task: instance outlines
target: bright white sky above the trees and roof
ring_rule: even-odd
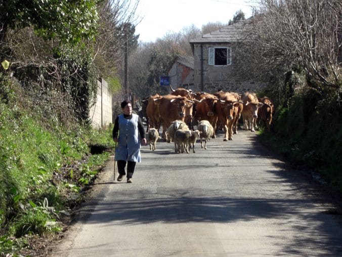
[[[252,15],[250,0],[139,0],[136,34],[139,41],[155,42],[167,33],[178,33],[194,24],[199,29],[208,22],[227,24],[242,10]]]

